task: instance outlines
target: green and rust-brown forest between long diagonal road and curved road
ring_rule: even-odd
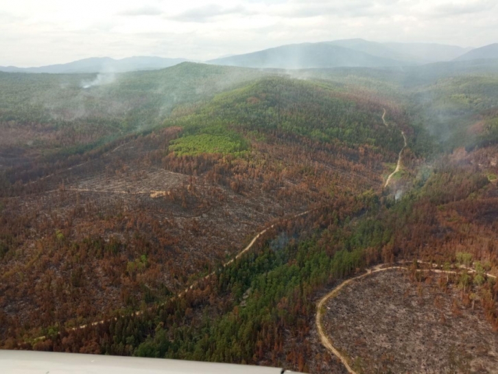
[[[496,272],[497,249],[493,245],[482,248],[482,240],[495,240],[495,221],[486,218],[483,206],[496,201],[497,187],[486,178],[489,170],[482,169],[489,165],[475,165],[474,156],[467,154],[466,161],[455,155],[444,160],[397,202],[372,192],[343,193],[306,217],[283,220],[265,233],[254,251],[202,281],[185,298],[140,316],[122,316],[86,329],[45,329],[44,341],[8,338],[4,347],[16,347],[21,341],[26,349],[339,372],[337,360],[316,340],[313,323],[316,300],[340,279],[379,261],[417,257],[442,267],[479,261],[486,271]],[[447,220],[448,212],[462,218]],[[464,213],[472,215],[475,226],[469,226]],[[410,236],[422,232],[418,239]],[[465,252],[458,243],[465,244]],[[479,274],[460,275],[455,288],[462,298],[461,312],[469,312],[474,305],[480,311],[479,324],[492,331],[498,321],[497,283],[484,282],[474,289],[467,285],[476,278],[479,283]],[[460,281],[465,288],[459,288]]]

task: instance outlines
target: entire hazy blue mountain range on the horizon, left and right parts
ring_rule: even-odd
[[[320,69],[335,67],[406,67],[433,62],[498,58],[498,44],[472,49],[436,43],[377,43],[361,38],[319,43],[281,45],[248,54],[228,55],[206,61],[211,65],[256,69]],[[85,58],[67,64],[43,67],[0,67],[0,71],[23,73],[123,73],[164,69],[186,58],[134,56],[117,60]],[[191,60],[190,60],[191,61]]]

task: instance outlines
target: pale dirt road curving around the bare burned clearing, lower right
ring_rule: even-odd
[[[420,261],[420,260],[417,260],[417,262],[418,262],[418,264],[429,264],[425,261]],[[460,268],[465,269],[469,272],[475,272],[474,269],[468,268],[466,266],[460,266]],[[342,290],[342,288],[344,288],[344,286],[348,285],[349,283],[351,283],[353,281],[357,281],[357,280],[362,279],[364,277],[368,277],[369,275],[374,274],[375,272],[382,272],[382,271],[394,270],[394,269],[408,270],[408,268],[406,266],[389,266],[388,268],[381,268],[381,265],[374,266],[373,268],[367,269],[366,273],[358,275],[357,277],[354,277],[354,278],[346,279],[346,281],[342,282],[340,285],[337,285],[337,287],[334,288],[331,292],[329,292],[328,294],[323,296],[322,299],[320,299],[320,301],[318,301],[318,303],[316,305],[317,310],[316,310],[315,323],[316,323],[316,329],[318,331],[318,335],[320,336],[320,341],[322,342],[322,345],[325,348],[327,348],[329,351],[331,351],[331,353],[333,353],[333,355],[335,355],[335,357],[337,357],[342,362],[342,364],[344,364],[344,367],[346,368],[346,370],[350,374],[356,374],[356,372],[353,369],[351,369],[351,366],[349,366],[349,364],[346,360],[346,357],[344,357],[344,355],[342,353],[340,353],[340,351],[338,351],[337,348],[335,348],[333,346],[329,337],[327,335],[325,335],[323,332],[322,312],[324,312],[324,304],[327,303],[327,301],[329,301],[329,299],[333,299],[335,296],[337,296],[337,294],[339,294],[339,292]],[[436,269],[434,269],[434,268],[433,269],[417,269],[416,271],[418,271],[418,272],[429,272],[430,271],[430,272],[436,272],[436,273],[442,273],[442,274],[458,274],[458,272],[455,270],[440,270],[437,268]],[[495,275],[489,274],[489,273],[486,273],[486,276],[491,277],[491,278],[495,278],[495,279],[497,278]]]

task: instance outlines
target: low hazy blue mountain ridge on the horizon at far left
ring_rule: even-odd
[[[92,57],[68,62],[67,64],[43,67],[0,67],[0,71],[11,73],[124,73],[126,71],[156,70],[178,65],[186,58],[163,58],[154,56],[133,56],[116,60],[110,57]]]

